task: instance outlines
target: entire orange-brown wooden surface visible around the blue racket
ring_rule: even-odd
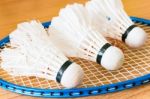
[[[12,31],[22,21],[38,19],[42,22],[56,16],[67,3],[84,3],[86,0],[0,0],[0,38]],[[131,16],[150,19],[149,0],[123,0]],[[150,99],[150,85],[143,85],[122,92],[84,97],[82,99]],[[37,99],[0,89],[0,99]]]

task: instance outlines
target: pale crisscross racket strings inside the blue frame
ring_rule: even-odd
[[[150,39],[150,27],[146,24],[137,23],[136,25],[142,27],[148,33],[148,39]],[[115,71],[107,71],[103,67],[99,66],[97,63],[88,61],[81,58],[70,58],[72,61],[81,65],[85,72],[85,76],[80,88],[87,88],[93,86],[101,86],[105,84],[112,84],[117,82],[122,82],[143,76],[150,73],[150,41],[147,40],[146,45],[140,49],[131,49],[124,45],[122,42],[109,39],[111,43],[124,51],[125,63],[122,68]],[[5,48],[10,47],[3,46],[0,51]],[[0,62],[2,60],[0,59]],[[3,69],[0,69],[0,78],[11,82],[13,84],[33,87],[33,88],[51,88],[51,89],[61,89],[63,88],[60,84],[38,77],[22,77],[22,76],[11,76]]]

